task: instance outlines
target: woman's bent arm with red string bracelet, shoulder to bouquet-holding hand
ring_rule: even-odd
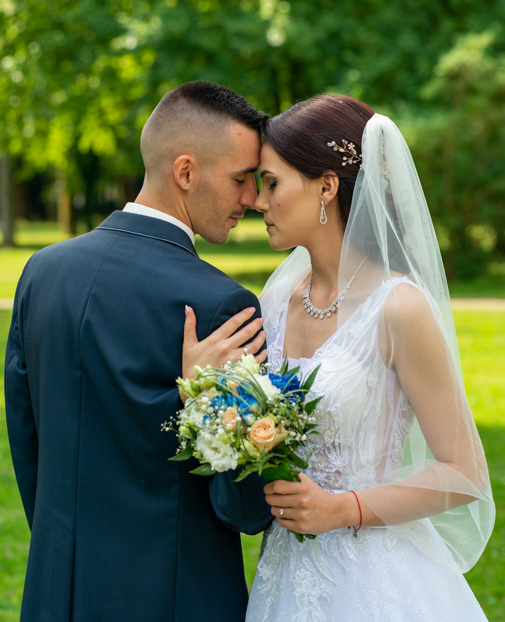
[[[410,285],[396,288],[384,308],[384,323],[385,358],[398,374],[434,459],[394,485],[358,491],[368,526],[433,516],[483,498],[489,487],[462,381],[424,295]],[[284,508],[281,526],[293,531],[317,534],[360,522],[354,494],[326,493],[306,476],[301,484],[270,483],[265,493],[275,516]]]

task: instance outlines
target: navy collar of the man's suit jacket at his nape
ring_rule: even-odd
[[[101,225],[97,227],[98,229],[124,231],[124,233],[160,239],[170,244],[176,244],[176,246],[182,246],[189,253],[198,256],[188,234],[184,233],[180,227],[172,225],[165,220],[160,220],[160,218],[118,210],[107,216]]]

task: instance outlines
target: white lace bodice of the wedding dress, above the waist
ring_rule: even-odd
[[[329,492],[375,486],[401,463],[414,414],[396,373],[384,364],[378,327],[386,298],[404,282],[415,287],[406,278],[384,282],[312,358],[289,360],[303,377],[321,365],[312,386],[314,396],[324,396],[315,411],[320,435],[309,439],[306,473]],[[283,362],[287,313],[286,300],[268,335],[273,368]]]

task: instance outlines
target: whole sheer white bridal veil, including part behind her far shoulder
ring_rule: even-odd
[[[341,138],[328,136],[329,141]],[[414,409],[416,416],[405,423],[403,447],[390,446],[394,439],[394,435],[388,434],[391,396],[378,399],[377,407],[383,412],[378,429],[373,430],[372,447],[357,443],[343,459],[343,489],[356,490],[391,536],[410,540],[455,572],[466,572],[479,559],[491,535],[494,503],[483,447],[465,396],[439,245],[414,162],[396,125],[388,117],[374,114],[366,123],[361,147],[357,149],[362,153],[362,170],[357,175],[343,236],[340,287],[350,280],[364,258],[366,262],[338,310],[337,330],[360,305],[367,304],[381,284],[395,276],[406,276],[414,287],[402,285],[393,289],[387,310],[381,314],[378,332],[371,338],[383,345],[386,373],[395,373],[388,353],[403,349],[407,356],[411,351],[412,356],[417,356],[419,343],[412,348],[407,333],[404,337],[401,332],[392,332],[388,317],[396,317],[397,311],[408,313],[406,306],[421,305],[419,309],[424,310],[427,324],[432,325],[427,331],[427,339],[432,343],[427,343],[427,348],[438,352],[431,371],[443,383],[444,399],[435,402],[429,391],[422,396],[423,408],[430,409],[440,424],[435,429],[435,440],[433,431],[427,429]],[[336,168],[335,172],[338,175]],[[268,279],[260,296],[267,335],[269,318],[270,322],[273,320],[269,310],[278,309],[310,270],[309,254],[306,249],[297,248]],[[402,287],[416,295],[405,295]],[[409,382],[415,386],[415,379]],[[391,388],[377,386],[376,391]],[[353,422],[343,421],[342,425],[352,428]],[[360,485],[355,474],[366,462],[360,452],[370,451],[373,473]],[[399,459],[391,468],[388,457],[394,453]],[[431,504],[434,510],[429,509]],[[434,537],[433,530],[423,529],[422,521],[416,519],[432,511],[435,513],[429,518],[439,537]]]

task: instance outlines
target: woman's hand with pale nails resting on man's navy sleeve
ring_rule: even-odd
[[[230,317],[227,322],[214,330],[208,337],[198,341],[196,337],[196,315],[191,307],[186,306],[183,378],[194,378],[195,365],[219,367],[227,361],[236,361],[240,355],[243,355],[245,348],[255,355],[258,363],[263,363],[268,355],[267,350],[259,351],[265,343],[265,332],[262,330],[263,318],[255,318],[240,328],[254,312],[254,307],[243,309]],[[256,333],[258,334],[256,335]]]

